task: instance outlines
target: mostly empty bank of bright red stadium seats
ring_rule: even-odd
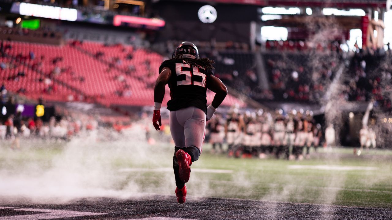
[[[5,66],[3,76],[9,90],[54,101],[151,105],[156,71],[163,61],[155,52],[120,44],[71,41],[58,47],[4,41],[4,45],[2,63],[13,63]],[[164,103],[168,90],[166,94]],[[212,93],[207,99],[212,100]],[[245,105],[232,96],[223,105],[234,103]]]

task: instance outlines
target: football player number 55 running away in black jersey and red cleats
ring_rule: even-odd
[[[160,108],[169,85],[171,99],[169,126],[174,141],[173,168],[176,179],[177,202],[186,200],[192,162],[199,159],[205,135],[205,123],[214,115],[216,108],[227,95],[227,88],[214,76],[214,61],[199,58],[197,47],[188,41],[178,45],[172,59],[159,67],[159,76],[154,87],[154,115],[152,124],[156,130],[162,126]],[[211,105],[207,107],[207,88],[215,92]],[[159,124],[158,124],[159,123]]]

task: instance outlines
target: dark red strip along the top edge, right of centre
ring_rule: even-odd
[[[165,0],[160,0],[165,1]],[[181,0],[209,4],[249,4],[258,6],[336,7],[336,8],[385,8],[386,0]]]

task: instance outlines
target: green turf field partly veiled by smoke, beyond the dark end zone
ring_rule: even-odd
[[[174,195],[172,144],[143,141],[0,143],[0,197],[66,202],[84,197]],[[312,151],[309,160],[234,159],[204,145],[186,184],[203,197],[392,207],[392,151]]]

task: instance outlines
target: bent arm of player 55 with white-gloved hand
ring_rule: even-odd
[[[214,99],[212,100],[211,105],[207,108],[207,121],[212,118],[214,115],[216,108],[220,106],[227,95],[227,88],[225,84],[222,83],[220,79],[215,77],[214,75],[207,76],[206,87],[215,92]]]

